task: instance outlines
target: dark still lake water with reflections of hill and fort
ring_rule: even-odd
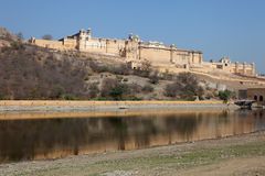
[[[157,113],[152,110],[117,116],[76,112],[75,117],[75,112],[71,112],[71,117],[59,113],[54,118],[50,113],[15,113],[19,118],[6,113],[0,116],[0,163],[138,150],[251,133],[265,130],[264,112],[166,110]]]

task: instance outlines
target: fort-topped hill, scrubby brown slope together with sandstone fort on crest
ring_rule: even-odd
[[[92,30],[57,41],[20,36],[0,28],[0,99],[193,100],[219,99],[225,90],[264,97],[250,89],[265,85],[255,65],[227,57],[205,62],[200,51],[132,34],[94,37]]]

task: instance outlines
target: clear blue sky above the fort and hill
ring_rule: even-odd
[[[95,36],[160,41],[204,59],[255,62],[265,73],[265,0],[0,0],[0,25],[55,38],[92,28]]]

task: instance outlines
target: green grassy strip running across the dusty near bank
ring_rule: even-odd
[[[92,164],[54,166],[24,173],[25,175],[104,175],[116,170],[132,172],[135,175],[149,170],[178,170],[201,165],[219,163],[230,158],[265,156],[265,141],[243,145],[216,146],[212,148],[193,148],[171,154],[152,154],[141,157],[125,157],[123,160],[106,160]],[[21,173],[20,173],[21,174]],[[123,175],[123,174],[121,174]]]

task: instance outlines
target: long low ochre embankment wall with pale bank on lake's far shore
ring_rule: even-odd
[[[104,111],[140,109],[239,109],[223,101],[64,101],[64,100],[1,100],[0,112],[8,111]]]

